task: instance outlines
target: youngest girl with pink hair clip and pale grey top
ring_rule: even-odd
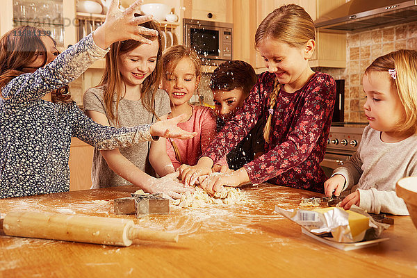
[[[377,58],[363,75],[369,126],[357,152],[325,182],[327,196],[352,189],[341,206],[370,213],[408,215],[395,194],[402,177],[417,174],[417,51],[399,50]]]

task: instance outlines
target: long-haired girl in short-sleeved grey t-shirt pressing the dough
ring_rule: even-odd
[[[161,31],[151,21],[142,27],[158,31],[151,44],[124,40],[111,45],[106,54],[106,70],[101,83],[85,92],[85,113],[100,124],[134,126],[156,122],[170,112],[170,99],[161,82]],[[174,176],[156,179],[149,163],[149,142],[99,151],[95,149],[92,165],[92,187],[133,184],[149,193],[166,193],[179,197],[183,185]],[[165,181],[166,180],[166,181]]]

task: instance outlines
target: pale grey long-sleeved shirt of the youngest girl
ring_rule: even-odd
[[[346,179],[345,188],[359,190],[359,206],[369,213],[409,215],[404,200],[395,193],[402,177],[417,174],[417,135],[395,143],[382,142],[380,131],[366,126],[357,152],[334,170]]]

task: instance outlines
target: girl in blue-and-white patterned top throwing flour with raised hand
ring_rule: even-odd
[[[40,28],[24,26],[0,40],[0,197],[57,193],[70,189],[68,158],[71,137],[99,149],[126,147],[152,136],[191,138],[177,122],[158,122],[115,129],[101,126],[64,99],[63,88],[95,60],[108,45],[154,31],[138,27],[150,17],[133,16],[139,1],[124,13],[115,5],[97,30],[58,55],[56,44]],[[112,30],[117,30],[113,32]]]

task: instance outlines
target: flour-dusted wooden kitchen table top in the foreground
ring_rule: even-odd
[[[142,227],[177,232],[178,243],[134,240],[115,247],[0,235],[0,277],[417,277],[417,229],[393,217],[379,245],[341,251],[302,234],[272,213],[299,206],[304,190],[263,184],[244,188],[249,202],[206,208],[171,206],[170,215],[136,219],[115,215],[113,199],[136,188],[0,199],[9,211],[40,211],[129,218]]]

